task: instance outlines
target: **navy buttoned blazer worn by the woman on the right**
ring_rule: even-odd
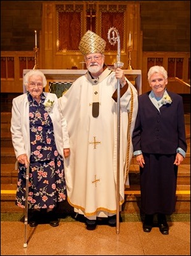
[[[160,111],[150,100],[150,92],[138,97],[138,115],[132,133],[134,151],[159,154],[174,154],[177,148],[187,151],[182,97],[167,93],[173,102],[162,105]]]

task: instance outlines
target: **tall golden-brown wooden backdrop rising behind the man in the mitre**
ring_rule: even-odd
[[[108,41],[110,27],[115,27],[120,34],[121,61],[124,62],[124,68],[128,66],[127,43],[131,31],[132,67],[141,69],[140,3],[134,1],[43,3],[39,68],[71,69],[76,66],[81,69],[83,55],[78,50],[78,45],[88,29],[92,29],[106,41],[106,64],[112,65],[117,61],[117,44],[111,45]]]

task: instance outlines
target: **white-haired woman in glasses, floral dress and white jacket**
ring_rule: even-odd
[[[41,71],[29,71],[24,76],[27,92],[13,99],[11,110],[11,136],[18,160],[15,204],[21,208],[28,205],[32,211],[31,227],[42,218],[52,227],[59,225],[55,209],[66,200],[64,158],[70,152],[67,124],[60,116],[57,96],[43,92],[46,83]],[[25,187],[27,167],[28,188]]]

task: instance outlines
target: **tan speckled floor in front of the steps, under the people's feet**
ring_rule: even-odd
[[[143,232],[139,216],[128,214],[118,231],[108,225],[88,231],[71,217],[60,219],[58,227],[30,227],[13,215],[1,214],[1,255],[190,255],[190,214],[171,215],[168,235],[157,226]]]

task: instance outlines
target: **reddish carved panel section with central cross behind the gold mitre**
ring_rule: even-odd
[[[106,52],[116,52],[117,44],[108,41],[108,31],[115,27],[120,34],[120,47],[125,52],[125,4],[56,4],[57,51],[76,51],[86,31],[99,34],[106,41]],[[83,25],[84,24],[84,25]]]

